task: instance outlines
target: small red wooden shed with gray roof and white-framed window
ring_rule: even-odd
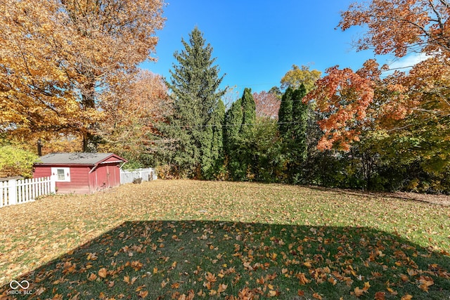
[[[33,178],[53,176],[57,193],[94,193],[120,185],[124,162],[114,153],[51,153],[34,164]]]

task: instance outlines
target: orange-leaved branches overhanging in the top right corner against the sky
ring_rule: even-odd
[[[446,0],[372,0],[354,3],[342,13],[339,26],[347,30],[366,25],[368,31],[356,43],[359,50],[402,57],[410,51],[450,53],[449,6]]]

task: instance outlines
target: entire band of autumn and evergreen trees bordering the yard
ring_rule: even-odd
[[[164,2],[123,3],[2,4],[9,11],[0,18],[2,174],[29,176],[40,139],[44,154],[116,152],[130,167],[159,166],[167,178],[450,193],[446,1],[372,0],[342,13],[342,30],[368,26],[360,49],[426,54],[409,72],[385,75],[385,66],[368,60],[321,77],[293,65],[280,86],[244,89],[229,107],[198,28],[181,40],[169,79],[139,70],[155,51]],[[138,50],[124,46],[130,43]],[[11,159],[17,164],[6,164]]]

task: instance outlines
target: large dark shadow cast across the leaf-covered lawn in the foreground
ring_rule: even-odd
[[[27,289],[17,284],[26,286],[24,280]],[[407,294],[450,299],[450,257],[371,228],[221,221],[125,222],[0,287],[4,299],[400,299]]]

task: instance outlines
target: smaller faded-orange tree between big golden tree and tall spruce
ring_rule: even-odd
[[[146,157],[154,155],[164,142],[155,142],[155,136],[160,136],[156,125],[172,113],[164,79],[140,70],[127,80],[117,81],[103,97],[105,120],[98,127],[102,137],[99,150],[148,164]]]

